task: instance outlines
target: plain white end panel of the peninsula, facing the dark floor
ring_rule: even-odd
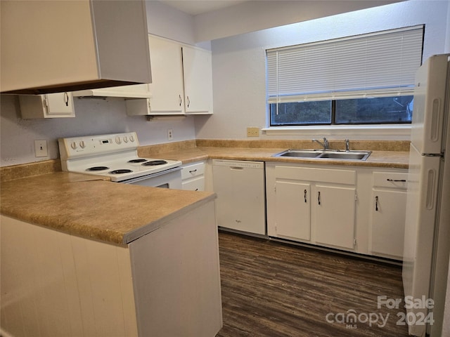
[[[212,202],[130,244],[139,336],[213,337],[221,328]]]

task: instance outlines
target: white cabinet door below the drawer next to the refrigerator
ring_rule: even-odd
[[[373,189],[372,253],[402,258],[406,191]]]

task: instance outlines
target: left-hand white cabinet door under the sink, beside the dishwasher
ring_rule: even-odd
[[[311,239],[311,185],[301,182],[277,181],[276,236],[302,240]]]

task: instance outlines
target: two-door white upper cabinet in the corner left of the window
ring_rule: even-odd
[[[148,36],[153,82],[146,100],[127,100],[127,114],[212,114],[211,52]]]

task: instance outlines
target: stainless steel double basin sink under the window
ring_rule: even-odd
[[[371,151],[345,150],[285,150],[273,157],[294,157],[307,159],[366,160]]]

